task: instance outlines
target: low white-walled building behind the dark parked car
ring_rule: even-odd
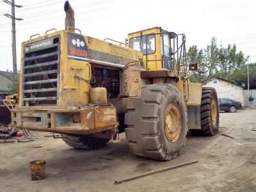
[[[244,106],[244,92],[242,86],[219,77],[213,77],[204,81],[204,83],[204,86],[215,88],[219,98],[237,100],[243,102]]]

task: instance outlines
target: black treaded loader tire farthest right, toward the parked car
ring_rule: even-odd
[[[212,102],[216,104],[216,118],[212,120]],[[201,129],[189,129],[189,132],[193,135],[204,135],[204,136],[214,136],[218,133],[219,129],[219,108],[218,108],[218,96],[216,90],[211,87],[202,88],[202,99],[201,99]]]

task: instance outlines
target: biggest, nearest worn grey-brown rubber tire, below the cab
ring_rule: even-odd
[[[175,142],[166,137],[164,114],[174,103],[180,112],[180,134]],[[186,143],[188,132],[184,99],[171,84],[150,84],[141,88],[141,98],[129,100],[125,114],[125,135],[129,148],[136,156],[170,160],[179,156]]]

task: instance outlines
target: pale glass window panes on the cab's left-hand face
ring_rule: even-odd
[[[147,41],[147,42],[146,42]],[[141,51],[142,54],[152,54],[156,52],[156,35],[142,35],[130,39],[132,49]]]

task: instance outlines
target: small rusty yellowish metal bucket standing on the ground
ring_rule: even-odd
[[[35,160],[30,162],[31,180],[41,180],[45,178],[45,161]]]

